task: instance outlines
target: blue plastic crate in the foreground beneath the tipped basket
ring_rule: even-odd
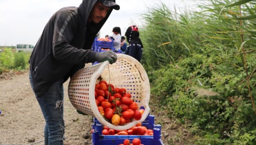
[[[154,135],[102,135],[103,125],[94,118],[92,128],[92,144],[93,145],[119,145],[124,142],[125,139],[132,141],[134,138],[139,138],[141,144],[144,145],[163,145],[161,140],[161,125],[154,124],[154,115],[148,115],[148,121],[141,123],[142,126],[148,129],[153,129]]]

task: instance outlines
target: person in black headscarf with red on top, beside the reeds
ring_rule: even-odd
[[[138,27],[135,25],[128,27],[125,36],[129,43],[125,54],[134,57],[140,62],[142,57],[143,44],[139,38]]]

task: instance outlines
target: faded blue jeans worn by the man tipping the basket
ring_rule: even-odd
[[[30,72],[29,80],[31,87],[33,88]],[[63,79],[53,84],[43,97],[36,97],[46,122],[44,128],[45,145],[63,145],[65,129],[63,119],[63,97]]]

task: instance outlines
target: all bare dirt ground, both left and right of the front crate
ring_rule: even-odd
[[[92,117],[76,113],[68,99],[68,81],[64,83],[65,145],[89,145]],[[163,110],[150,99],[155,124],[162,125],[162,141],[187,144],[189,132],[175,120],[167,119]],[[28,79],[28,70],[0,75],[0,145],[44,144],[45,121]],[[39,143],[37,143],[39,142]]]

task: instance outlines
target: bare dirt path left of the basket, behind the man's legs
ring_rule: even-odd
[[[91,144],[91,119],[76,113],[64,84],[65,144]],[[28,71],[0,80],[0,144],[30,144],[44,139],[44,118],[28,79]],[[41,142],[39,144],[44,144]]]

